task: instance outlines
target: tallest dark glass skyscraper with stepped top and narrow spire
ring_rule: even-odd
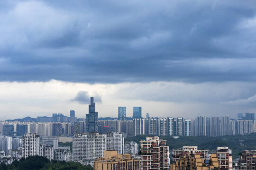
[[[89,114],[86,114],[86,132],[98,132],[98,112],[95,112],[95,102],[91,97],[89,104]]]

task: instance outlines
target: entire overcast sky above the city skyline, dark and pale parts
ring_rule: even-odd
[[[0,119],[256,112],[255,0],[2,0]]]

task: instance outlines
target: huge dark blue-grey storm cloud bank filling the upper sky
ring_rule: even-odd
[[[254,1],[0,3],[1,81],[256,80]]]

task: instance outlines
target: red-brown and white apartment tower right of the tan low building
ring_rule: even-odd
[[[140,141],[141,170],[163,170],[168,168],[169,146],[158,136]]]

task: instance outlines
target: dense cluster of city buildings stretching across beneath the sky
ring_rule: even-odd
[[[256,132],[254,113],[202,117],[194,120],[178,118],[146,118],[141,107],[134,107],[133,118],[126,117],[126,107],[118,108],[118,119],[98,119],[91,97],[89,113],[77,119],[53,114],[28,121],[0,122],[0,161],[12,164],[30,156],[48,160],[74,161],[91,165],[94,170],[254,170],[256,151],[242,151],[233,164],[232,151],[219,146],[216,151],[183,146],[170,150],[165,139],[158,136],[226,136]],[[140,143],[125,142],[127,136],[150,135]],[[61,146],[60,143],[70,143]]]

